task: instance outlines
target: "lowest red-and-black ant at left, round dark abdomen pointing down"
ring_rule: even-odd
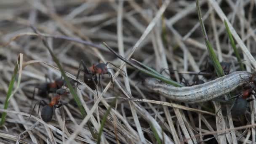
[[[56,90],[56,93],[54,94],[53,99],[50,101],[49,104],[44,100],[40,100],[37,115],[39,113],[40,106],[43,105],[43,109],[41,110],[41,118],[45,123],[50,122],[53,117],[54,110],[63,105],[63,103],[61,103],[59,101],[61,96],[68,94],[68,93],[69,92],[66,91],[65,89],[59,88],[58,90]],[[35,104],[35,106],[36,106],[36,104]],[[32,112],[34,111],[35,106],[33,107]],[[29,119],[32,115],[32,112],[29,116]]]

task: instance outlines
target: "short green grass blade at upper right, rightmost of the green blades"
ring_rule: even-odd
[[[241,69],[241,70],[245,70],[245,67],[244,67],[244,65],[243,65],[243,63],[242,63],[241,57],[240,57],[240,55],[239,55],[239,53],[238,53],[237,47],[235,46],[235,41],[234,41],[234,39],[233,39],[233,37],[232,37],[232,34],[231,34],[231,32],[230,32],[230,29],[229,29],[229,26],[227,25],[227,21],[224,20],[224,23],[225,23],[225,27],[226,27],[227,33],[228,33],[228,35],[229,35],[230,43],[231,43],[231,45],[232,45],[232,48],[234,49],[235,56],[237,57],[237,61],[238,61],[239,64],[240,64],[240,69]]]

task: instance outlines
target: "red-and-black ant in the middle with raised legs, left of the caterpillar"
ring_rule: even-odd
[[[81,64],[83,65],[83,69],[80,68]],[[97,77],[96,74],[99,75],[99,83],[100,83],[100,76],[104,75],[104,74],[108,74],[111,77],[111,83],[113,83],[113,77],[112,77],[111,73],[107,70],[107,69],[113,69],[113,68],[107,68],[108,64],[111,64],[112,66],[121,70],[123,73],[120,72],[120,71],[119,72],[126,77],[126,74],[123,71],[123,69],[120,69],[119,67],[115,66],[111,62],[93,64],[92,67],[89,67],[89,70],[88,70],[87,67],[85,66],[84,61],[81,60],[80,64],[79,64],[79,69],[78,69],[78,72],[77,72],[77,79],[78,79],[78,76],[80,74],[80,71],[83,71],[84,72],[84,76],[83,76],[84,82],[93,90],[95,90],[96,86],[98,85],[98,77]],[[97,89],[96,89],[96,91],[98,93]]]

